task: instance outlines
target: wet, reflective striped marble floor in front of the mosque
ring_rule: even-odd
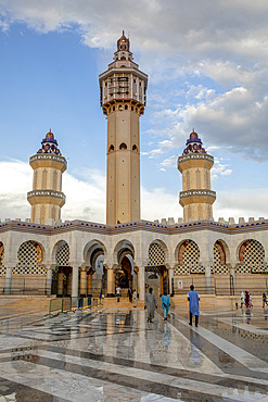
[[[0,318],[3,401],[268,401],[268,311],[141,309]]]

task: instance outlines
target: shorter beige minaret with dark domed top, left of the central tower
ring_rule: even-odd
[[[65,204],[62,192],[62,174],[66,171],[67,162],[62,156],[54,135],[50,131],[41,141],[42,147],[29,159],[34,169],[33,191],[27,193],[31,205],[30,219],[40,219],[46,224],[61,218],[61,208]]]

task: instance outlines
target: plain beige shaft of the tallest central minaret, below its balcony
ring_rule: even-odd
[[[140,136],[139,114],[117,103],[107,115],[106,222],[140,219]],[[123,109],[123,110],[120,110]],[[127,149],[120,149],[120,145]],[[111,146],[114,150],[111,150]],[[132,150],[132,147],[136,149]]]

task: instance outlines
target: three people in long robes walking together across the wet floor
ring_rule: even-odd
[[[190,314],[190,322],[189,325],[192,326],[193,316],[195,317],[195,327],[199,326],[199,301],[200,297],[199,293],[194,290],[194,286],[190,286],[190,291],[188,292],[188,301],[189,301],[189,314]],[[164,321],[167,321],[168,311],[170,306],[170,299],[166,291],[161,297],[162,309],[164,312]],[[154,318],[154,312],[157,309],[157,301],[153,293],[153,289],[150,288],[149,292],[145,294],[145,303],[144,310],[148,311],[148,323],[152,323]]]

